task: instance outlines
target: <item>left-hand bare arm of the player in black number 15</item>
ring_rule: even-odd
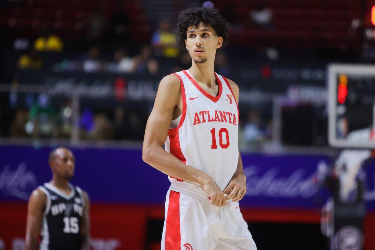
[[[31,193],[27,206],[26,250],[36,250],[40,229],[42,228],[43,212],[47,204],[47,196],[42,190]]]

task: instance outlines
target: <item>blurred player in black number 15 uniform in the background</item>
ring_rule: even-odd
[[[28,202],[27,250],[90,249],[89,196],[69,183],[74,162],[67,148],[49,154],[52,180],[34,190]]]

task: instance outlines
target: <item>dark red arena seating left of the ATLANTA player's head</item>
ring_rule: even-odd
[[[117,1],[105,1],[96,5],[91,0],[24,0],[17,6],[0,7],[0,27],[8,34],[37,37],[39,25],[43,24],[51,33],[66,38],[82,38],[87,19],[95,10],[100,10],[104,18],[109,18],[118,10]],[[148,42],[150,28],[138,1],[123,1],[121,8],[130,19],[131,39]]]

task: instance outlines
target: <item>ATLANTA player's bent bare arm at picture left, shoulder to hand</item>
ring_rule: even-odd
[[[177,107],[177,108],[176,108]],[[224,193],[204,172],[188,166],[163,149],[169,126],[176,109],[182,111],[180,80],[175,75],[165,76],[159,84],[154,107],[148,117],[143,141],[142,159],[166,175],[198,183],[208,195],[208,202],[216,207],[226,205]]]

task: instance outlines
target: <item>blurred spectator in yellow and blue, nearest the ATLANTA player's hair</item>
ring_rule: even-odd
[[[157,56],[161,54],[164,57],[177,58],[180,54],[175,34],[171,31],[171,23],[168,19],[159,23],[158,30],[151,37],[151,43]]]

